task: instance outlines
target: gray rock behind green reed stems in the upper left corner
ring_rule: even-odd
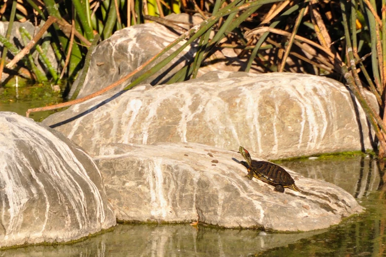
[[[43,24],[43,23],[42,23]],[[20,31],[19,29],[21,27],[24,27],[30,34],[31,36],[34,36],[38,31],[39,31],[39,28],[36,28],[31,22],[27,21],[27,22],[14,22],[13,23],[13,26],[12,26],[12,32],[11,32],[11,36],[10,36],[10,39],[9,41],[14,45],[16,46],[19,50],[23,49],[24,48],[24,42],[22,40],[22,36],[20,34]],[[5,36],[5,33],[7,32],[7,29],[8,29],[8,22],[0,22],[0,34],[2,36]],[[51,62],[52,66],[54,68],[57,68],[58,67],[58,62],[56,60],[56,57],[55,57],[55,54],[54,54],[54,51],[51,47],[51,45],[49,44],[49,41],[51,40],[50,36],[47,35],[47,32],[45,32],[42,36],[42,39],[39,40],[38,44],[41,44],[42,42],[45,42],[44,43],[44,47],[43,50],[45,50],[45,53],[46,53],[46,56],[48,58],[48,60]],[[2,49],[3,49],[3,46],[2,44],[0,43],[0,53],[2,53]],[[33,54],[33,56],[35,57],[38,53],[37,51],[35,51],[35,48],[33,48],[31,50],[31,53]],[[13,55],[10,54],[8,52],[8,60],[12,60],[13,59]],[[41,70],[41,71],[44,71],[46,74],[49,74],[48,70],[44,67],[44,65],[42,65],[38,58],[35,58],[35,65]],[[3,82],[5,81],[7,78],[8,78],[9,74],[7,73],[7,69],[5,69],[3,71],[3,74],[1,76],[1,81],[0,82]],[[48,75],[49,76],[49,75]]]

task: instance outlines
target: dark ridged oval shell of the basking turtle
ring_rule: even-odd
[[[260,174],[259,179],[268,184],[274,186],[290,186],[295,184],[291,175],[289,175],[289,173],[279,165],[267,161],[255,160],[252,160],[251,164],[253,171]]]

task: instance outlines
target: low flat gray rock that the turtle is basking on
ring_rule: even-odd
[[[293,171],[302,192],[274,192],[274,186],[245,177],[237,152],[201,144],[110,144],[94,160],[123,221],[309,231],[362,211],[350,193]]]

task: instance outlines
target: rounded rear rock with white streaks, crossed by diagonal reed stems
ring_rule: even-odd
[[[126,76],[155,56],[174,41],[175,38],[177,38],[175,32],[170,31],[158,23],[130,26],[115,32],[111,37],[96,47],[90,61],[90,68],[87,72],[85,82],[83,83],[83,85],[87,86],[82,87],[77,97],[90,95]],[[184,43],[185,41],[181,41],[175,45],[165,56],[171,55]],[[159,72],[145,80],[144,83],[156,85],[168,81],[176,71],[180,70],[192,60],[195,50],[191,50],[191,47],[194,45],[195,43],[188,46],[173,62],[165,65]],[[160,60],[165,58],[165,56]],[[158,62],[159,61],[156,61],[155,63]],[[142,73],[143,72],[140,72],[133,76],[125,81],[125,83],[113,89],[113,91],[122,90]],[[72,85],[69,97],[75,92],[77,83],[78,81],[75,81]]]

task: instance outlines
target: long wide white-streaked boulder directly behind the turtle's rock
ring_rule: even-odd
[[[217,71],[98,96],[43,123],[91,155],[106,143],[196,142],[228,150],[243,145],[272,160],[371,149],[366,116],[352,99],[343,84],[325,77]]]

